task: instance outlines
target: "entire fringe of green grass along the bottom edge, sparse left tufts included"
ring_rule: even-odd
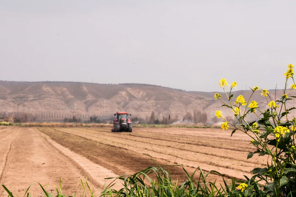
[[[232,181],[227,184],[226,180],[223,178],[223,175],[217,171],[210,171],[206,174],[198,167],[192,175],[186,171],[182,165],[166,165],[168,169],[170,167],[181,167],[186,175],[186,180],[177,180],[174,181],[171,178],[171,173],[169,170],[165,170],[160,165],[156,164],[156,167],[147,167],[144,170],[136,172],[132,175],[122,175],[115,178],[109,185],[107,185],[104,190],[99,194],[99,197],[226,197],[226,196],[244,196],[240,190],[236,187],[241,181]],[[209,174],[218,174],[223,179],[223,184],[216,185],[215,182],[207,181],[207,176]],[[197,177],[195,180],[193,177]],[[114,179],[114,178],[106,178]],[[120,180],[120,182],[118,182]],[[255,181],[255,180],[250,180]],[[61,183],[61,181],[60,181]],[[43,194],[39,197],[95,197],[94,189],[91,189],[87,181],[83,183],[81,180],[81,186],[83,187],[83,193],[77,194],[74,192],[72,196],[65,196],[61,193],[62,186],[59,185],[59,188],[54,190],[46,191],[44,186],[38,183],[43,191]],[[115,184],[122,184],[120,189],[113,189]],[[4,185],[2,187],[7,191],[9,197],[16,197],[10,192]],[[257,184],[259,188],[259,184]],[[28,192],[30,186],[25,192],[25,196],[30,197],[31,194]],[[118,188],[118,187],[117,187]],[[255,192],[252,196],[266,196],[263,193]],[[246,195],[245,195],[246,196]]]

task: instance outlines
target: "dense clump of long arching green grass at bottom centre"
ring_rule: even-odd
[[[118,177],[117,179],[121,180],[123,187],[119,190],[112,189],[112,186],[115,184],[112,182],[102,192],[101,196],[230,196],[232,194],[231,191],[235,189],[235,183],[233,182],[234,185],[228,186],[223,176],[217,171],[210,171],[204,174],[198,168],[199,178],[194,180],[193,177],[198,172],[197,170],[192,175],[189,175],[183,166],[174,165],[174,167],[181,167],[187,179],[173,181],[170,171],[157,165],[157,167],[148,167],[133,175]],[[207,182],[206,178],[210,173],[221,175],[224,185],[216,186],[215,182]]]

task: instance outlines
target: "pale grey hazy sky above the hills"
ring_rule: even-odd
[[[294,0],[0,0],[0,80],[283,88],[295,30]]]

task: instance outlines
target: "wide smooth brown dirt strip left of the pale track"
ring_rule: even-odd
[[[7,154],[7,165],[3,170],[1,184],[4,184],[16,196],[24,196],[26,189],[32,196],[38,196],[43,191],[41,185],[59,185],[62,182],[62,193],[66,195],[81,194],[81,179],[86,178],[86,172],[75,165],[64,154],[60,154],[35,128],[11,127],[9,135],[17,135],[11,143]],[[0,136],[6,135],[0,130]],[[12,137],[7,136],[13,139]],[[1,144],[2,145],[2,144]],[[0,152],[4,150],[0,147]],[[2,155],[1,155],[2,156]],[[97,187],[95,182],[88,180],[89,185]],[[45,190],[53,189],[54,185],[45,186]],[[96,190],[96,193],[98,190]],[[0,196],[7,196],[4,188],[0,188]],[[25,195],[27,196],[27,195]]]

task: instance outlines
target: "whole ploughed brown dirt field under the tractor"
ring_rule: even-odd
[[[80,181],[88,173],[87,182],[98,195],[104,178],[155,166],[149,157],[159,165],[183,165],[189,174],[197,167],[204,172],[216,170],[228,180],[250,177],[250,170],[263,167],[267,159],[256,155],[247,160],[254,149],[239,132],[230,137],[231,131],[222,129],[134,127],[132,133],[111,133],[110,129],[0,127],[0,184],[23,196],[32,183],[59,187],[61,179],[62,193],[73,195],[75,190],[82,192]],[[186,179],[180,167],[170,170],[173,179]],[[221,182],[214,174],[208,181],[215,179]],[[29,191],[32,196],[42,193],[38,184]],[[1,187],[0,196],[4,193]]]

